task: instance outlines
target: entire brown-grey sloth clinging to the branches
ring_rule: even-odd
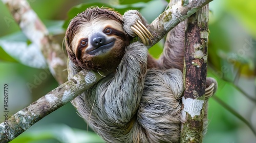
[[[114,70],[72,103],[107,142],[178,142],[184,25],[169,32],[164,54],[156,61],[143,43],[130,43],[140,30],[148,37],[138,20],[146,25],[136,10],[122,16],[111,9],[89,8],[70,21],[69,78],[81,69]],[[208,88],[209,95],[214,88]]]

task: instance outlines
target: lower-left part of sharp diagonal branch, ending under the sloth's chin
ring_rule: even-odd
[[[107,75],[108,73],[101,73]],[[9,142],[34,125],[41,118],[67,104],[84,90],[90,88],[103,77],[96,71],[81,70],[66,83],[50,91],[44,97],[18,111],[0,124],[0,142]]]

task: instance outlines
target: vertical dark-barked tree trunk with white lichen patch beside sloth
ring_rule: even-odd
[[[182,98],[182,125],[180,142],[202,142],[207,75],[208,9],[187,19],[184,52],[184,97]]]

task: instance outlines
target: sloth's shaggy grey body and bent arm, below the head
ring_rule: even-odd
[[[146,46],[132,43],[116,74],[72,101],[88,125],[108,142],[179,140],[182,73],[147,70],[146,62]]]

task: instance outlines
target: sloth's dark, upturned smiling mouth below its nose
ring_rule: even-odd
[[[90,55],[95,55],[95,54],[103,54],[105,52],[108,52],[115,44],[115,39],[109,40],[106,44],[100,45],[98,47],[93,47],[92,50],[88,52]]]

